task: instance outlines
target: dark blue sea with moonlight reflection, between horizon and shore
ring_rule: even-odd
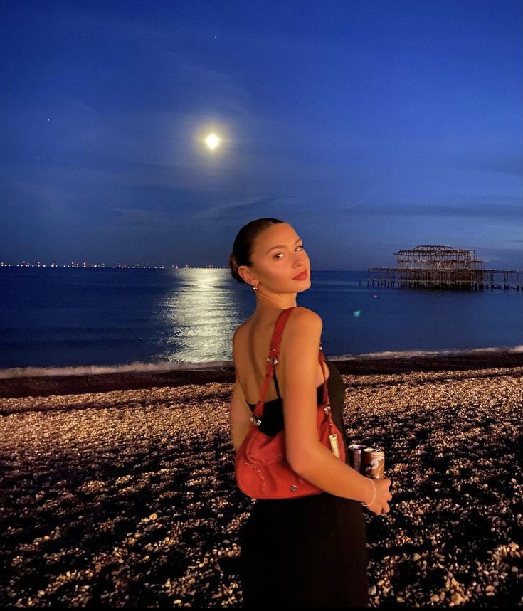
[[[312,270],[297,305],[327,356],[523,346],[523,290],[398,289]],[[231,361],[255,309],[226,268],[0,267],[0,374],[185,368]]]

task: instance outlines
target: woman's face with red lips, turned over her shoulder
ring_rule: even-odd
[[[265,289],[296,293],[310,287],[310,260],[292,225],[277,223],[258,235],[251,256],[250,274]],[[295,276],[306,272],[305,278]],[[251,282],[252,283],[252,282]]]

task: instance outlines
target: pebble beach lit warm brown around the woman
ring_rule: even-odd
[[[523,354],[332,358],[349,443],[381,445],[371,607],[523,606]],[[11,378],[1,607],[241,607],[232,368]]]

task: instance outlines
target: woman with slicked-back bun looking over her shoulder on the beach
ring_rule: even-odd
[[[229,262],[232,276],[251,285],[256,296],[254,314],[233,336],[236,383],[231,397],[231,438],[238,450],[265,378],[275,322],[283,309],[296,306],[296,294],[310,287],[310,260],[292,225],[277,218],[259,218],[238,232]],[[369,604],[361,506],[376,515],[387,513],[391,482],[364,477],[318,440],[317,405],[323,397],[324,375],[332,419],[345,435],[345,386],[327,358],[328,371],[322,371],[318,360],[321,334],[318,314],[305,307],[292,310],[282,334],[275,376],[265,395],[263,420],[273,430],[285,424],[290,467],[324,492],[255,501],[240,533],[245,607]]]

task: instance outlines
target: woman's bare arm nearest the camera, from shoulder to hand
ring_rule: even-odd
[[[373,482],[335,457],[318,439],[316,371],[322,319],[309,309],[297,307],[285,327],[285,443],[287,461],[303,479],[329,494],[369,503]],[[386,484],[389,482],[389,484]],[[374,481],[376,500],[371,511],[389,511],[386,499],[390,480]]]

